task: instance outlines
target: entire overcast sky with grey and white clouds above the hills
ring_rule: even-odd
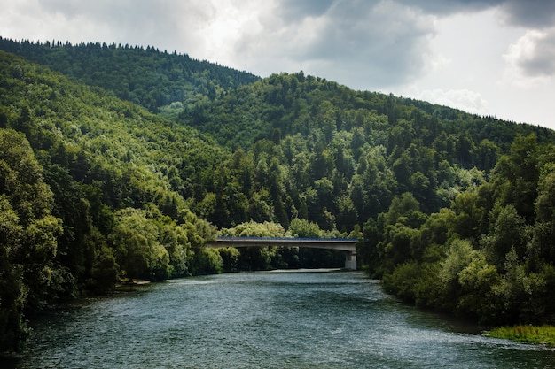
[[[555,0],[0,0],[16,40],[152,45],[555,129]]]

